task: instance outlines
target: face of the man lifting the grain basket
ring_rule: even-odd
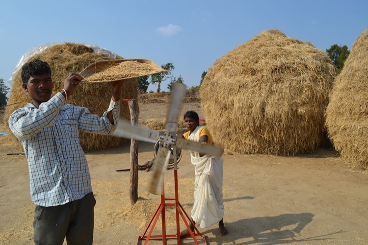
[[[39,107],[42,102],[51,98],[53,93],[53,80],[50,74],[32,75],[27,83],[23,83],[23,89],[32,98],[35,106]]]

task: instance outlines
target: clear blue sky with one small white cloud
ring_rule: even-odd
[[[0,10],[5,81],[30,49],[74,42],[127,59],[172,62],[174,75],[191,87],[216,59],[264,30],[325,51],[333,44],[351,49],[368,28],[367,0],[3,0]]]

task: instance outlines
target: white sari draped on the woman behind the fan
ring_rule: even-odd
[[[188,140],[199,142],[199,129],[189,135]],[[196,151],[189,151],[194,165],[194,204],[191,218],[201,228],[218,223],[224,216],[222,200],[223,160],[219,157],[199,156]]]

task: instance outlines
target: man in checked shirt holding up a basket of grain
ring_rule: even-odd
[[[110,106],[99,118],[85,107],[67,104],[78,81],[71,73],[63,89],[51,97],[53,80],[47,62],[34,59],[22,67],[23,89],[32,102],[9,118],[24,147],[34,212],[35,244],[92,244],[94,206],[87,160],[78,130],[110,134],[118,123],[123,81],[111,83]]]

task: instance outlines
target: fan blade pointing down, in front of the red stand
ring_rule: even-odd
[[[171,152],[165,147],[159,147],[153,164],[152,178],[148,187],[148,191],[155,195],[161,195],[161,187],[163,183],[163,173],[167,170]]]

